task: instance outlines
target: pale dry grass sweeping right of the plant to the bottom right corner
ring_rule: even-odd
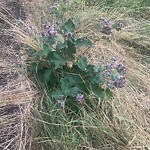
[[[129,142],[130,148],[144,150],[150,147],[150,70],[125,54],[127,50],[127,47],[125,49],[113,42],[99,41],[87,57],[95,63],[112,56],[125,61],[128,81],[124,89],[115,91],[112,106],[119,124],[124,124],[133,137],[133,141]]]

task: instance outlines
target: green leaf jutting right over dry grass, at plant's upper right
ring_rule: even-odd
[[[89,39],[80,38],[80,39],[76,40],[76,46],[77,46],[77,48],[88,47],[88,46],[92,47],[93,44],[92,44],[92,42]]]

